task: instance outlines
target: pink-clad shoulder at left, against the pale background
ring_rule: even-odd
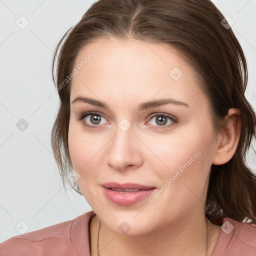
[[[76,238],[86,236],[93,215],[89,211],[72,220],[13,236],[0,243],[0,255],[77,255]]]

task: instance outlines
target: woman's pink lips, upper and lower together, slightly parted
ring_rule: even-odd
[[[141,184],[134,184],[134,183],[124,183],[119,184],[116,182],[110,182],[110,183],[104,183],[102,184],[103,193],[105,197],[110,200],[113,203],[119,204],[119,205],[131,205],[135,202],[138,202],[146,197],[148,197],[150,194],[152,194],[156,187],[152,186],[145,186]],[[119,188],[119,189],[142,189],[139,191],[134,192],[126,192],[126,191],[114,191],[111,190],[111,188]]]

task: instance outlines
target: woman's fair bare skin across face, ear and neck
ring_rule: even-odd
[[[239,109],[229,109],[225,119],[229,129],[216,136],[200,80],[177,50],[163,43],[104,38],[85,45],[75,65],[94,48],[99,52],[72,79],[68,131],[79,188],[96,213],[89,227],[91,255],[97,252],[99,219],[100,256],[206,255],[207,222],[207,255],[211,255],[221,229],[204,214],[210,167],[234,154]],[[169,75],[173,67],[183,73],[178,80]],[[110,109],[71,103],[78,95],[104,101]],[[141,102],[167,97],[189,107],[165,104],[137,110]],[[101,114],[99,124],[91,122],[91,116],[77,120],[88,111]],[[178,121],[167,118],[160,125],[156,117],[150,119],[155,113],[170,114]],[[126,131],[118,127],[123,118],[131,125]],[[90,129],[84,124],[98,126]],[[110,181],[161,189],[197,151],[200,156],[153,202],[145,198],[117,205],[103,194],[100,184]],[[130,226],[125,234],[118,228],[123,221]]]

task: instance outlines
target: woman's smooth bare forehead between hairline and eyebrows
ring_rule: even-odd
[[[164,43],[96,40],[81,48],[73,67],[77,74],[71,81],[70,100],[78,94],[119,102],[124,97],[144,101],[166,94],[195,104],[198,97],[207,100],[186,57]]]

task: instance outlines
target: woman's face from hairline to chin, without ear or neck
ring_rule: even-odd
[[[204,216],[217,143],[189,63],[166,44],[109,38],[86,45],[74,68],[69,152],[101,221],[134,235]],[[148,189],[113,191],[108,182]]]

